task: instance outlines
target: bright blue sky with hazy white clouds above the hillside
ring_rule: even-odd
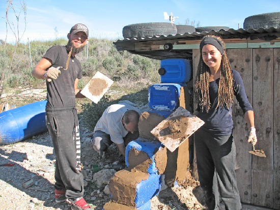
[[[12,1],[16,11],[23,0],[0,0],[0,39],[13,43],[16,37],[21,43],[48,41],[67,38],[70,28],[83,23],[89,28],[89,38],[110,40],[123,39],[125,25],[145,22],[170,22],[163,12],[173,13],[175,24],[186,20],[200,22],[199,26],[243,27],[244,19],[251,15],[279,12],[280,0],[25,0],[26,29],[24,13],[19,15],[19,29],[6,27],[7,1]],[[8,19],[17,27],[16,15],[10,8]],[[16,36],[13,34],[16,33]],[[18,33],[19,32],[19,33]],[[23,33],[24,32],[24,33]]]

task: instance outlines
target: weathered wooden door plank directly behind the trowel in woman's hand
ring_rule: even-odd
[[[253,49],[253,107],[258,142],[253,156],[251,203],[273,207],[273,49]]]

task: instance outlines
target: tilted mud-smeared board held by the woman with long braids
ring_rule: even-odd
[[[151,133],[171,152],[197,131],[204,122],[183,107],[163,119]]]

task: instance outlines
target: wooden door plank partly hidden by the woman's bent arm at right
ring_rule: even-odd
[[[231,68],[238,71],[243,80],[249,102],[253,104],[253,49],[228,49]],[[251,146],[246,141],[248,126],[236,98],[232,105],[233,137],[236,146],[236,177],[241,202],[251,202]]]

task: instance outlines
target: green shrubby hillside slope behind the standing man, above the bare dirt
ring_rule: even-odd
[[[4,69],[5,77],[7,78],[10,62],[14,51],[14,45],[6,44],[6,58],[4,53],[5,42],[0,40],[0,64],[2,68],[0,77]],[[30,61],[29,45],[21,44],[17,46],[12,63],[9,78],[5,81],[5,89],[16,88],[18,86],[38,87],[44,85],[43,80],[38,80],[32,77],[32,68],[40,61],[48,48],[53,45],[66,45],[66,39],[58,39],[54,41],[33,41],[30,42],[32,66]],[[89,54],[87,59],[87,49],[77,55],[81,62],[83,85],[97,71],[105,74],[109,78],[122,85],[122,81],[134,82],[144,81],[146,83],[155,83],[160,81],[157,73],[159,61],[146,58],[139,55],[131,54],[127,51],[117,51],[113,41],[106,39],[89,40]],[[127,82],[125,82],[127,83]],[[127,84],[125,84],[127,86]],[[130,88],[130,86],[127,86]]]

